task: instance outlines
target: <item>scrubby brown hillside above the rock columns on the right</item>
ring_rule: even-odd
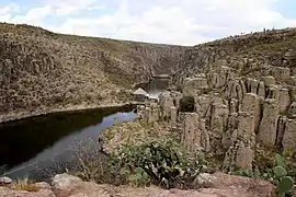
[[[296,28],[274,30],[196,45],[180,60],[175,80],[220,70],[227,66],[237,76],[269,76],[275,67],[296,74]]]

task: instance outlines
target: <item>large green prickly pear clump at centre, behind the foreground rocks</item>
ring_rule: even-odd
[[[123,146],[112,158],[126,183],[135,186],[191,187],[196,175],[207,169],[206,160],[182,152],[177,142],[164,138]]]

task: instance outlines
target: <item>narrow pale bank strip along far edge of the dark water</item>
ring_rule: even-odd
[[[0,115],[0,124],[19,120],[23,118],[41,116],[46,114],[54,114],[54,113],[72,113],[72,112],[80,112],[80,111],[89,111],[89,109],[103,109],[103,108],[112,108],[112,107],[125,107],[125,106],[133,106],[140,104],[139,102],[125,102],[125,103],[111,103],[111,104],[103,104],[103,105],[73,105],[68,107],[57,107],[57,108],[39,108],[34,112],[18,112],[18,113],[8,113]]]

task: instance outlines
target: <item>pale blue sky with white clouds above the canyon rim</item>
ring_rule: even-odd
[[[65,34],[196,45],[296,26],[296,0],[0,0],[0,21]]]

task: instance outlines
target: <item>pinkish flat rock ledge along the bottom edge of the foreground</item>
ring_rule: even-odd
[[[58,174],[52,186],[37,183],[38,192],[16,192],[0,187],[0,197],[272,197],[274,186],[265,181],[223,173],[201,174],[196,178],[200,189],[161,189],[158,187],[115,187],[83,182],[79,177]]]

